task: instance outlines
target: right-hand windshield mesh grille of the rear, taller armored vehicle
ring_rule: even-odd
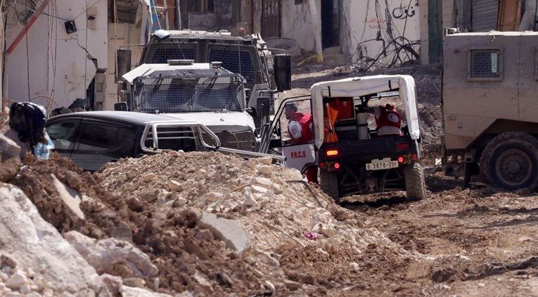
[[[210,44],[207,58],[211,62],[220,61],[222,68],[243,75],[247,84],[255,84],[261,82],[262,74],[255,71],[260,65],[253,65],[258,61],[254,50],[235,44]],[[236,54],[231,54],[233,52]]]

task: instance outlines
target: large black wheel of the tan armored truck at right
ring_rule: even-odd
[[[534,191],[538,184],[538,139],[525,132],[498,135],[482,152],[480,175],[493,187]]]

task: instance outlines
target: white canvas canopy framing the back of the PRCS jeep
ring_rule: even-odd
[[[372,75],[351,77],[343,80],[319,82],[310,88],[312,94],[312,118],[314,120],[314,144],[319,148],[324,142],[324,97],[357,97],[399,89],[411,139],[421,136],[416,110],[415,80],[411,75]]]

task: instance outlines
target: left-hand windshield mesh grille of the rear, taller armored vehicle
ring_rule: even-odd
[[[148,46],[146,53],[146,63],[166,64],[168,60],[190,59],[196,60],[198,44],[181,43],[181,44],[160,44]]]

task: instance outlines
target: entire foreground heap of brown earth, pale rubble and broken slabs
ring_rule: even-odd
[[[357,278],[368,283],[368,270],[378,261],[404,267],[406,259],[421,258],[271,159],[169,151],[120,160],[90,174],[56,153],[46,161],[28,154],[15,173],[11,185],[0,189],[20,189],[20,195],[4,204],[25,203],[20,210],[4,207],[1,225],[10,226],[34,208],[30,227],[11,226],[11,236],[45,228],[33,227],[38,223],[56,235],[42,247],[35,247],[38,235],[18,235],[17,241],[30,242],[23,248],[9,243],[0,254],[44,282],[64,279],[55,274],[60,268],[48,270],[25,255],[48,253],[50,263],[73,270],[73,277],[87,271],[94,279],[94,287],[28,282],[41,296],[73,293],[77,284],[113,296],[289,291],[321,296]],[[55,254],[58,244],[70,252]],[[72,260],[58,260],[63,258]],[[8,275],[0,285],[3,293],[27,291],[7,286],[17,272],[0,269]]]

